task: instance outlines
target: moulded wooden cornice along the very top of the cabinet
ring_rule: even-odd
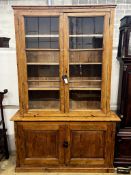
[[[72,9],[72,8],[75,8],[75,9],[79,9],[79,8],[82,8],[82,9],[90,9],[90,8],[96,8],[96,9],[106,9],[106,8],[115,8],[116,5],[104,5],[104,4],[101,4],[101,5],[66,5],[66,6],[61,6],[61,5],[57,5],[57,6],[12,6],[12,8],[14,10],[24,10],[24,9],[31,9],[31,10],[43,10],[43,9]]]

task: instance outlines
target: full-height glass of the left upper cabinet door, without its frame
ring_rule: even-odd
[[[60,110],[59,17],[25,17],[25,34],[29,109]]]

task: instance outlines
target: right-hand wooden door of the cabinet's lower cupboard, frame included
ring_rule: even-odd
[[[66,164],[111,167],[113,139],[112,125],[104,123],[69,125]]]

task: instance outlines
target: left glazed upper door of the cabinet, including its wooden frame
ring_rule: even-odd
[[[59,13],[35,12],[20,18],[19,74],[24,112],[64,112],[61,18]]]

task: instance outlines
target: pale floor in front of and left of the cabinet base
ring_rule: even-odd
[[[75,175],[76,173],[15,173],[15,155],[0,161],[0,175]],[[116,175],[117,173],[77,173],[77,175]]]

